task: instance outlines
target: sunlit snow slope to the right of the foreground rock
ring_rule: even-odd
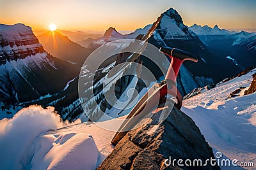
[[[244,76],[221,82],[214,89],[184,101],[182,111],[193,118],[209,144],[228,159],[256,163],[256,93],[243,96],[253,69]],[[236,97],[229,94],[245,87]],[[250,167],[246,167],[250,169]],[[252,167],[251,167],[252,168]]]

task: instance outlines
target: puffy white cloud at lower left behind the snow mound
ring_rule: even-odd
[[[79,122],[76,122],[79,123]],[[20,159],[33,139],[41,132],[68,125],[54,108],[29,106],[18,111],[13,118],[0,120],[1,169],[22,169]]]

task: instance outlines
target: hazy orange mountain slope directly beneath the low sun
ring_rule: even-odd
[[[70,62],[83,64],[84,60],[93,51],[90,48],[74,43],[58,31],[47,31],[37,37],[47,52],[51,53],[54,57]]]

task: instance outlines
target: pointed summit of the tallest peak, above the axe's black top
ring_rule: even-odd
[[[198,36],[184,25],[179,13],[170,8],[165,11],[156,31],[149,42],[157,47],[170,46],[180,48],[191,53],[204,51],[204,43]]]

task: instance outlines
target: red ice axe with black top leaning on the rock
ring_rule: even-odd
[[[129,131],[134,127],[142,118],[144,118],[153,106],[158,106],[160,99],[162,99],[167,94],[175,97],[177,103],[175,106],[180,110],[182,106],[182,96],[176,87],[176,79],[179,73],[180,66],[185,60],[191,60],[197,62],[198,60],[193,58],[191,53],[179,50],[177,48],[161,47],[160,52],[163,52],[171,59],[170,66],[168,68],[165,80],[161,83],[156,83],[153,87],[148,90],[148,92],[141,97],[140,101],[134,106],[127,118],[124,120],[123,124],[116,132],[111,143],[116,145]]]

